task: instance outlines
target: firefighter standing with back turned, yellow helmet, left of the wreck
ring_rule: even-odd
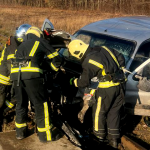
[[[58,52],[43,38],[43,33],[39,28],[29,28],[24,42],[17,48],[16,59],[11,68],[11,79],[14,82],[17,99],[15,120],[17,139],[26,137],[28,97],[35,108],[40,141],[53,141],[57,138],[52,137],[52,124],[43,84],[44,76],[41,65],[46,56],[52,59],[50,63],[52,69],[58,71],[61,64]]]

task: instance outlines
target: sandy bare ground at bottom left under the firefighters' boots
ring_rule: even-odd
[[[36,134],[32,134],[23,140],[17,140],[15,131],[0,133],[0,145],[0,150],[80,150],[65,137],[58,141],[41,143]]]

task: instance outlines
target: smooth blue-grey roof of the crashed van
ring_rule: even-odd
[[[138,45],[150,38],[150,17],[131,16],[96,21],[81,30],[136,41]]]

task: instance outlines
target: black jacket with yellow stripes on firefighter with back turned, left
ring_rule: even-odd
[[[53,58],[51,68],[55,71],[58,71],[61,64],[58,52],[51,47],[48,41],[33,34],[26,36],[24,42],[18,47],[15,57],[18,62],[25,60],[24,65],[21,67],[21,80],[41,77],[43,74],[42,62],[46,57]],[[11,79],[17,80],[18,73],[19,63],[18,65],[12,65]]]

